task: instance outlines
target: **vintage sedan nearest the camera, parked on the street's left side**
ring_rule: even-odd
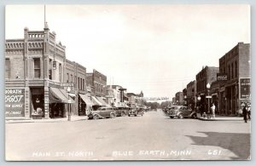
[[[113,110],[113,107],[100,107],[96,111],[91,111],[88,115],[89,119],[98,119],[105,117],[116,117],[116,112]]]

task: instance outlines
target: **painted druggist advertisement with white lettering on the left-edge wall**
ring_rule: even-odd
[[[5,117],[25,117],[25,89],[5,89]]]

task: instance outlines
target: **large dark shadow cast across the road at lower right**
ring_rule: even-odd
[[[219,146],[234,152],[238,157],[235,160],[247,160],[250,158],[250,134],[199,132],[207,137],[186,135],[195,142],[196,146]]]

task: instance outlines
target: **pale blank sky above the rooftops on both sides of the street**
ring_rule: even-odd
[[[5,38],[44,30],[44,5],[8,5]],[[45,19],[68,60],[145,97],[172,98],[203,66],[250,43],[249,5],[46,5]]]

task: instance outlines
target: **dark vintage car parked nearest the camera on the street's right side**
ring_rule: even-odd
[[[183,118],[183,117],[191,117],[196,118],[196,112],[189,109],[188,106],[172,106],[168,112],[169,117],[174,118]]]

